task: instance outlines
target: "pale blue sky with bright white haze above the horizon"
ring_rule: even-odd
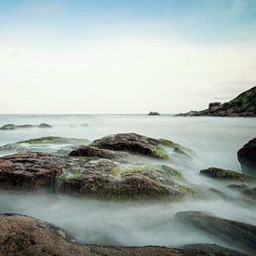
[[[0,0],[0,114],[205,109],[255,60],[256,0]]]

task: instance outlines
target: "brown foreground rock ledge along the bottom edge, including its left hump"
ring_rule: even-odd
[[[39,219],[20,214],[0,215],[1,255],[245,255],[233,249],[217,245],[186,245],[181,249],[166,247],[103,247],[78,244],[74,237],[60,227]]]

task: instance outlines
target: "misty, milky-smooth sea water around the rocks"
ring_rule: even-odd
[[[172,115],[0,115],[6,124],[53,128],[0,130],[0,145],[42,136],[85,138],[136,132],[181,143],[195,151],[191,167],[184,169],[190,182],[225,190],[218,182],[201,178],[201,168],[219,167],[240,171],[237,150],[256,136],[256,118],[176,117]],[[227,192],[229,193],[229,192]],[[0,192],[0,213],[19,212],[68,230],[87,244],[181,246],[195,242],[225,244],[216,237],[182,226],[174,218],[181,210],[207,210],[223,218],[256,224],[256,203],[243,200],[188,199],[181,202],[130,203],[77,198],[68,195]]]

